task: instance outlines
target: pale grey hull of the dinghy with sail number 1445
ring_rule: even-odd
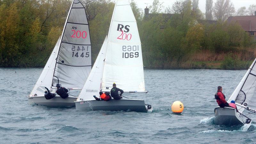
[[[42,105],[46,107],[74,107],[77,97],[68,97],[62,99],[60,96],[55,96],[50,100],[46,100],[44,96],[33,96],[28,97],[28,103],[31,105]]]

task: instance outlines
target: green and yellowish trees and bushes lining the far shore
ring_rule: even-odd
[[[70,4],[69,0],[25,3],[3,0],[0,5],[0,67],[44,67],[62,33]],[[237,23],[227,25],[219,20],[216,24],[202,24],[199,21],[203,14],[192,1],[181,0],[175,4],[170,11],[159,13],[163,6],[155,0],[149,6],[153,14],[144,17],[137,4],[131,1],[145,68],[248,68],[256,57],[256,42]],[[84,5],[94,62],[108,34],[115,4],[95,0]]]

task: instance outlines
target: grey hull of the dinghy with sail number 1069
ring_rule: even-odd
[[[78,101],[76,102],[76,110],[106,110],[106,111],[136,111],[147,112],[144,100],[110,100],[110,101]]]

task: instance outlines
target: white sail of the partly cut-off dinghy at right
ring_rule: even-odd
[[[247,103],[249,108],[255,108],[256,104],[256,59],[253,61],[250,68],[242,78],[241,82],[232,93],[228,102],[235,100],[236,103]],[[244,108],[237,106],[240,113],[244,111]]]

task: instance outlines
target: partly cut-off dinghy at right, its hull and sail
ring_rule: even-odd
[[[235,100],[238,112],[235,108],[217,107],[214,109],[214,124],[217,125],[236,125],[246,124],[247,127],[251,125],[251,114],[256,114],[256,59],[253,61],[246,74],[237,85],[235,91],[228,99]],[[254,108],[254,109],[253,109]],[[248,111],[244,111],[244,110]],[[243,114],[242,114],[243,113]]]

